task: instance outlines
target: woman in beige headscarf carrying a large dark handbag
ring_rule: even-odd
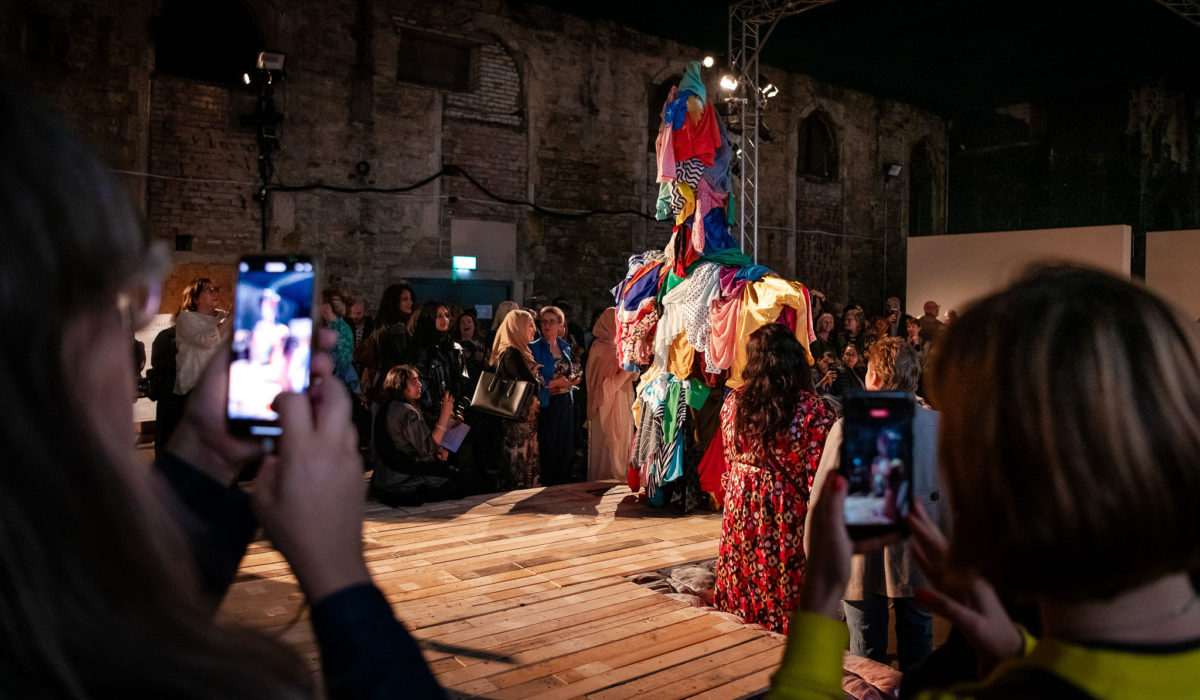
[[[503,379],[521,379],[540,387],[538,370],[529,343],[536,327],[528,311],[510,311],[500,324],[492,345],[491,363]],[[504,451],[499,486],[505,490],[529,489],[541,484],[538,463],[538,401],[530,401],[529,413],[515,420],[504,420]]]

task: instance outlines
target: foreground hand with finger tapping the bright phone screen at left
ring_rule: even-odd
[[[340,382],[322,377],[307,395],[281,394],[275,409],[283,435],[278,454],[263,460],[254,510],[316,603],[371,580],[362,560],[366,484],[350,397]]]

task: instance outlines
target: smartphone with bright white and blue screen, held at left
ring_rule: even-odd
[[[308,388],[316,279],[308,256],[252,255],[238,262],[226,403],[234,435],[281,435],[275,397]]]

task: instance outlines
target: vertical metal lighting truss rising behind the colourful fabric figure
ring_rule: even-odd
[[[737,79],[737,88],[730,90],[726,102],[730,114],[738,114],[742,122],[742,160],[738,183],[738,231],[742,250],[752,249],[751,257],[758,262],[758,125],[767,106],[758,84],[758,54],[767,44],[779,20],[799,14],[834,0],[740,0],[730,5],[730,70]],[[1192,5],[1186,2],[1186,5]]]

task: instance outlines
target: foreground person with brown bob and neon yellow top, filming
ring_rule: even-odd
[[[1200,352],[1192,324],[1106,273],[1039,268],[942,339],[930,397],[953,539],[914,508],[919,594],[991,666],[918,698],[1200,698]],[[1020,347],[1020,353],[1013,353]],[[1069,352],[1070,361],[1058,361]],[[1052,388],[1052,390],[1051,390]],[[772,698],[842,698],[845,479],[814,505]],[[894,539],[894,537],[893,537]],[[995,587],[994,587],[995,586]],[[1044,638],[996,593],[1032,599]]]

